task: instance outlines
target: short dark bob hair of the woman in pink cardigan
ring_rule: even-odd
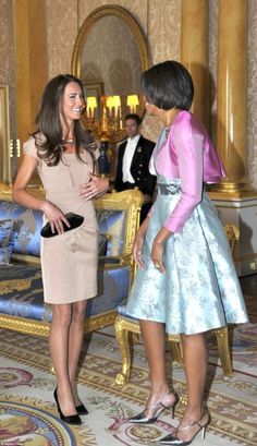
[[[167,60],[151,67],[143,73],[140,85],[146,99],[159,108],[191,108],[194,84],[191,74],[180,62]]]

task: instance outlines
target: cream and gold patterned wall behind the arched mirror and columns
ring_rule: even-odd
[[[103,4],[125,8],[138,21],[149,43],[152,63],[180,60],[181,0],[45,0],[47,22],[48,76],[71,71],[72,50],[79,26],[86,16]],[[208,0],[207,0],[208,1]],[[244,0],[246,1],[246,0]],[[216,80],[218,0],[209,0],[209,70],[211,75],[211,136],[216,141]],[[257,1],[248,0],[248,172],[257,189]],[[11,135],[14,122],[14,73],[12,2],[0,0],[0,83],[10,86]],[[160,124],[147,119],[144,132],[156,138]]]

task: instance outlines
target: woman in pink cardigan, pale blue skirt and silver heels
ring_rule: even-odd
[[[225,177],[203,124],[188,110],[194,85],[179,62],[166,61],[142,77],[145,107],[164,128],[150,160],[158,195],[137,231],[134,258],[139,268],[126,312],[137,317],[146,350],[151,391],[132,423],[152,423],[178,396],[166,373],[166,333],[182,337],[187,406],[179,426],[159,441],[188,445],[210,422],[204,407],[207,370],[205,332],[247,322],[230,248],[206,183]]]

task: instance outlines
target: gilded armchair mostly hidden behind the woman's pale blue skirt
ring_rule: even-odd
[[[232,256],[234,257],[234,249],[235,243],[240,238],[240,230],[233,224],[225,225],[223,229],[230,244]],[[124,385],[130,381],[132,366],[128,338],[132,335],[133,341],[135,342],[139,337],[140,327],[137,320],[133,320],[132,317],[120,313],[115,320],[114,329],[122,357],[122,371],[118,373],[115,383],[118,385]],[[210,330],[209,334],[215,334],[216,336],[224,379],[230,379],[233,376],[233,371],[229,350],[228,326]],[[172,359],[175,362],[183,363],[183,349],[180,335],[167,335],[167,341],[172,352]]]

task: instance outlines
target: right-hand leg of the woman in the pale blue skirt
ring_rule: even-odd
[[[207,347],[204,334],[182,335],[185,378],[187,386],[187,406],[179,427],[200,421],[208,421],[208,413],[203,417],[203,400],[207,374]],[[185,431],[179,431],[181,439],[189,439],[199,430],[196,424]]]

